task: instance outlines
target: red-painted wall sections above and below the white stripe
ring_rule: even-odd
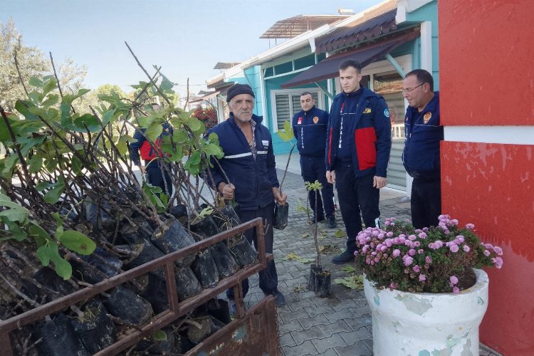
[[[438,11],[441,122],[534,125],[534,1],[439,0]],[[481,342],[534,355],[534,146],[446,141],[441,164],[444,213],[504,251],[488,269]]]

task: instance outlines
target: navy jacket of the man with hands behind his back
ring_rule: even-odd
[[[301,156],[325,157],[326,127],[328,112],[313,108],[305,112],[301,110],[291,120],[293,135],[297,139],[297,148]]]

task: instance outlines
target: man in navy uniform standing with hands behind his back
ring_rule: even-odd
[[[333,184],[326,181],[325,169],[325,147],[323,142],[326,140],[326,126],[328,125],[328,113],[325,110],[315,108],[315,100],[309,92],[300,95],[301,111],[293,116],[291,125],[293,134],[297,139],[298,153],[300,153],[300,172],[304,182],[315,182],[318,180],[323,184],[321,194],[317,194],[315,201],[315,192],[309,192],[308,197],[310,207],[313,210],[313,222],[328,219],[328,227],[335,228],[334,216],[334,187]],[[315,211],[317,204],[317,211]],[[324,211],[323,211],[324,206]]]

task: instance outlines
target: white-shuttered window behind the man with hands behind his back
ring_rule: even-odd
[[[271,102],[273,103],[273,120],[276,122],[276,125],[273,125],[275,132],[278,132],[278,129],[283,129],[283,123],[290,121],[295,113],[302,110],[300,94],[305,91],[312,94],[313,99],[315,99],[315,106],[324,110],[323,95],[319,95],[320,90],[318,89],[272,90]]]

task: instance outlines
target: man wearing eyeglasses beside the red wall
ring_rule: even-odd
[[[434,79],[424,69],[412,70],[402,85],[409,104],[404,119],[402,162],[414,178],[412,222],[415,228],[422,229],[436,226],[441,214],[439,142],[444,135],[439,123],[439,92],[434,92]]]

